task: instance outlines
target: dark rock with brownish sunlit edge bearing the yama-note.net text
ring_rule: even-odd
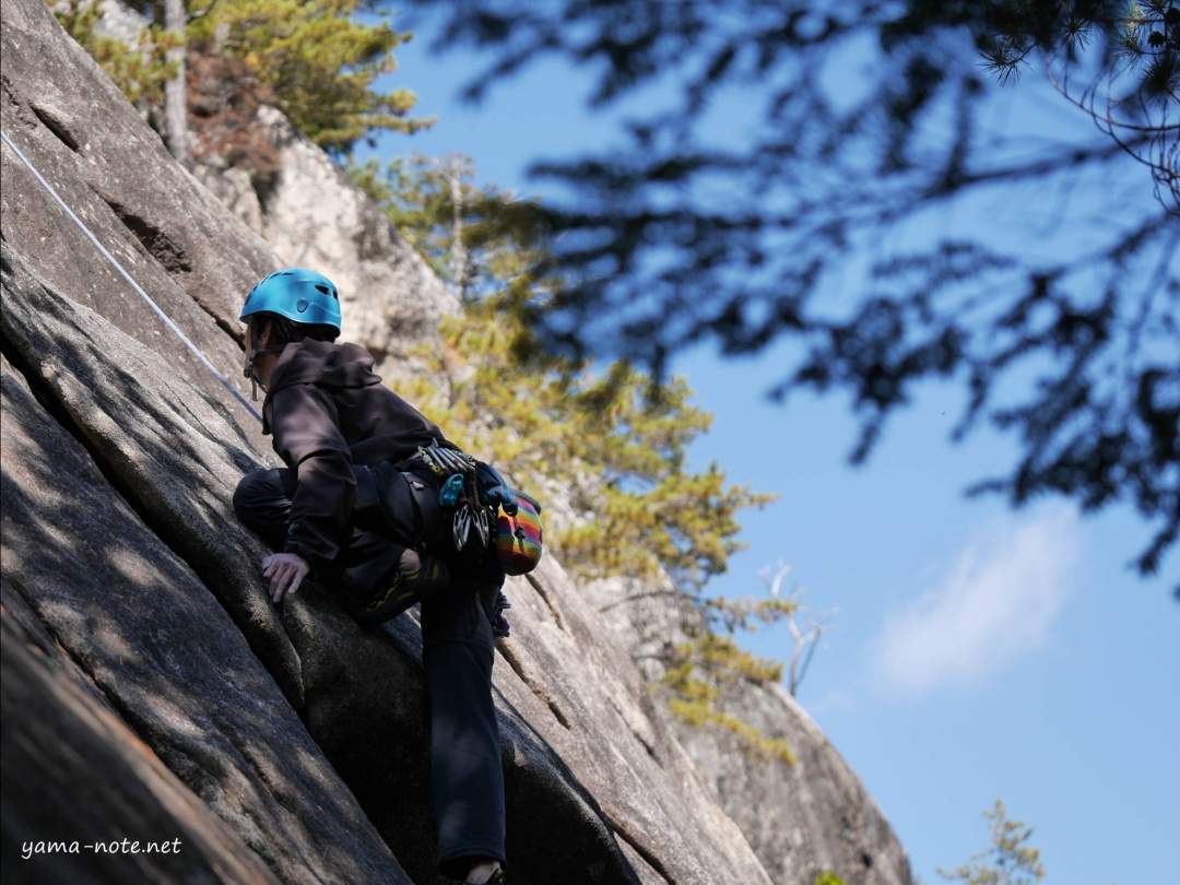
[[[229,825],[87,690],[85,674],[54,654],[51,636],[24,632],[9,608],[15,594],[7,585],[2,594],[4,706],[20,710],[0,720],[5,817],[14,818],[2,834],[5,881],[32,879],[35,865],[53,881],[122,885],[129,864],[117,852],[127,839],[144,851],[135,857],[136,881],[277,885]],[[38,630],[35,615],[28,620]],[[39,839],[17,844],[18,833]],[[51,853],[50,843],[68,845],[78,833],[101,841],[101,853]]]

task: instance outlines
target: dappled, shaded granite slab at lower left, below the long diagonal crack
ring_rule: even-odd
[[[5,248],[6,321],[28,306],[13,303],[28,281],[14,282],[9,260]],[[291,883],[408,883],[225,610],[103,477],[68,413],[55,420],[7,359],[2,392],[5,632],[24,622],[28,637],[11,637],[18,666],[4,683],[18,701],[40,696],[50,717],[31,715],[35,703],[7,708],[6,866],[18,841],[179,838],[185,863],[215,852],[198,865],[205,876],[218,856],[240,867],[229,880],[267,881],[269,868]],[[34,666],[38,650],[77,677]],[[54,690],[39,695],[17,673]],[[129,881],[135,866],[170,859],[103,857],[99,867],[105,881]],[[19,878],[73,880],[59,876],[71,860],[87,866],[35,858]]]

